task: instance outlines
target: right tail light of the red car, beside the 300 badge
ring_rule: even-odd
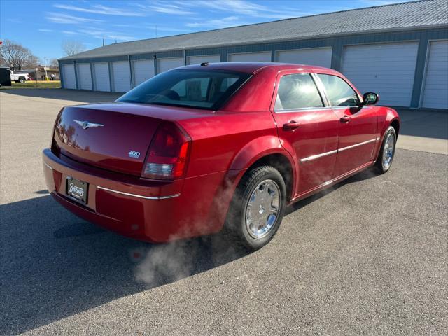
[[[186,174],[191,139],[174,123],[163,123],[155,132],[142,176],[149,179],[180,179]]]

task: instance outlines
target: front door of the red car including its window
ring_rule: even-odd
[[[360,106],[356,90],[343,78],[316,74],[325,95],[339,118],[339,144],[333,178],[351,172],[372,160],[377,139],[377,113],[371,106]]]

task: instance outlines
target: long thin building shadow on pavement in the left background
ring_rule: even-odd
[[[99,103],[113,102],[121,93],[113,92],[94,92],[87,90],[64,90],[64,89],[4,89],[0,92],[6,94],[14,94],[16,96],[45,98],[57,100],[69,100],[73,102]]]

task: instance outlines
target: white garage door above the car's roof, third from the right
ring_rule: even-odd
[[[332,48],[310,48],[276,52],[276,62],[331,67]]]

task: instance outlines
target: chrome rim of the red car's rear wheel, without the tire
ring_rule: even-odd
[[[281,204],[280,188],[275,181],[258,183],[246,203],[246,229],[255,239],[266,237],[274,228]]]

